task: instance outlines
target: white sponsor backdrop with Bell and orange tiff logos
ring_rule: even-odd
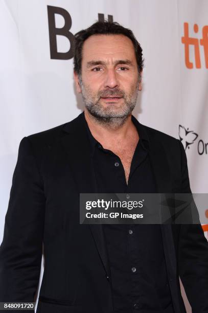
[[[20,140],[83,109],[73,82],[73,38],[97,19],[133,30],[145,58],[134,116],[180,138],[192,192],[207,192],[207,11],[206,0],[0,1],[0,241]]]

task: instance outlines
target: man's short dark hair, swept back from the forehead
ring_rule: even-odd
[[[81,64],[82,64],[82,47],[84,41],[92,35],[124,35],[131,39],[135,51],[136,62],[138,65],[138,73],[143,69],[144,60],[142,54],[142,48],[140,43],[136,40],[133,32],[121,26],[117,22],[112,21],[97,21],[87,29],[83,29],[75,34],[74,41],[74,72],[81,76]]]

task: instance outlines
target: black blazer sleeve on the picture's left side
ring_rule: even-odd
[[[33,302],[38,287],[45,196],[30,139],[19,144],[0,247],[0,302]],[[19,312],[19,310],[18,310]]]

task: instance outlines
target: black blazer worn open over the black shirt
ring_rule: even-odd
[[[34,301],[43,243],[37,313],[112,312],[102,225],[79,224],[79,193],[95,192],[83,119],[81,113],[19,144],[0,247],[1,302]],[[181,142],[143,127],[157,191],[191,192]],[[208,242],[201,225],[163,225],[161,231],[175,312],[186,312],[179,275],[193,312],[208,312]]]

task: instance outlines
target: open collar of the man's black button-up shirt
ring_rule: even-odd
[[[138,122],[138,120],[133,115],[131,115],[131,120],[132,120],[133,124],[135,125],[137,132],[138,132],[138,135],[140,137],[139,142],[141,143],[142,147],[145,150],[148,150],[149,149],[149,137],[147,135],[147,131],[146,131],[144,125],[140,124],[140,122]],[[93,155],[94,151],[95,151],[95,147],[99,146],[99,145],[102,147],[102,145],[91,134],[91,131],[89,129],[89,126],[87,124],[87,121],[85,119],[84,114],[83,114],[83,122],[86,126],[86,130],[87,130],[87,134],[88,134],[88,138],[89,138],[89,142],[90,142],[90,147],[91,147],[91,153]]]

